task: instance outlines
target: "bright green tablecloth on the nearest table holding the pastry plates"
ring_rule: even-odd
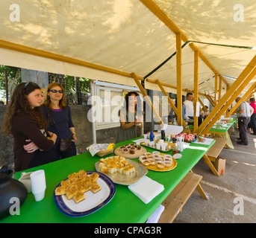
[[[131,140],[132,141],[132,140]],[[124,141],[116,144],[119,147],[123,144],[131,143],[131,141]],[[215,141],[212,142],[212,144]],[[195,164],[202,158],[207,150],[212,146],[205,146],[200,144],[190,144],[190,147],[184,149],[182,158],[177,160],[178,165],[174,170],[169,172],[154,172],[149,170],[146,176],[154,181],[163,184],[164,190],[156,196],[147,205],[134,195],[126,185],[116,184],[116,194],[113,199],[103,208],[91,213],[88,216],[72,218],[63,215],[58,210],[54,203],[53,194],[54,188],[63,179],[71,173],[79,170],[96,170],[95,164],[99,161],[99,157],[92,157],[89,152],[81,155],[76,155],[60,161],[55,161],[50,164],[45,164],[40,167],[25,170],[25,172],[45,170],[46,173],[46,194],[45,198],[40,202],[35,202],[34,195],[28,193],[28,197],[20,208],[20,214],[8,216],[2,219],[0,223],[4,222],[85,222],[85,223],[126,223],[126,222],[146,222],[154,210],[166,199],[166,196],[172,192],[175,186],[187,175],[187,173],[195,166]],[[146,148],[147,151],[152,152],[153,149]],[[172,155],[172,150],[169,152]],[[111,155],[107,155],[108,157]],[[138,161],[135,159],[134,161]],[[16,173],[16,179],[19,179],[21,172]]]

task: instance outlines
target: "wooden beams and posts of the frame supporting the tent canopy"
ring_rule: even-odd
[[[177,67],[177,86],[175,87],[177,89],[177,109],[175,109],[175,106],[173,103],[171,103],[171,100],[168,99],[170,105],[172,106],[172,109],[174,109],[175,112],[177,112],[178,116],[178,125],[184,124],[184,121],[182,120],[182,75],[181,75],[181,42],[188,42],[187,36],[184,35],[184,33],[181,32],[181,30],[169,19],[168,16],[166,16],[165,13],[163,13],[162,10],[160,10],[160,7],[158,7],[154,1],[152,0],[140,0],[148,9],[157,16],[158,19],[160,19],[161,22],[163,22],[170,30],[172,30],[173,33],[176,35],[176,67]],[[226,109],[228,109],[229,106],[231,106],[231,103],[234,101],[234,97],[236,97],[238,94],[240,94],[241,91],[248,85],[249,78],[255,77],[255,65],[256,65],[256,56],[249,62],[249,65],[246,66],[246,68],[243,70],[243,72],[240,74],[240,76],[237,78],[237,80],[232,84],[232,86],[229,86],[228,83],[225,81],[225,79],[219,74],[218,71],[213,67],[213,65],[210,64],[210,62],[206,59],[206,57],[202,54],[201,51],[199,51],[199,48],[196,47],[194,43],[190,43],[190,48],[193,49],[195,52],[195,60],[194,60],[194,98],[195,98],[195,104],[199,101],[202,103],[202,101],[199,99],[199,90],[198,90],[198,59],[200,59],[205,62],[205,64],[213,71],[215,74],[215,94],[214,94],[214,108],[212,112],[210,112],[210,115],[207,116],[207,118],[203,121],[203,123],[198,127],[196,123],[194,123],[194,132],[197,134],[200,133],[206,133],[210,129],[210,127],[213,125],[213,123],[216,122],[220,118],[220,116],[225,112]],[[6,48],[8,50],[12,51],[19,51],[25,54],[32,54],[38,57],[44,57],[51,60],[57,60],[60,62],[67,62],[73,65],[80,65],[87,68],[93,68],[99,71],[105,71],[111,74],[118,74],[124,77],[131,77],[134,79],[135,83],[139,87],[140,91],[142,92],[143,96],[146,97],[146,102],[149,104],[150,108],[152,109],[152,112],[154,113],[154,116],[157,118],[158,123],[160,123],[161,126],[163,126],[163,121],[161,120],[160,116],[157,114],[156,110],[154,109],[154,106],[149,99],[148,95],[146,94],[145,89],[143,89],[143,86],[141,85],[141,81],[144,80],[143,77],[137,76],[135,73],[128,73],[124,71],[119,71],[113,68],[107,68],[101,65],[96,65],[90,62],[85,62],[82,60],[76,60],[70,57],[63,57],[59,54],[53,54],[47,51],[41,51],[35,48],[30,48],[24,45],[18,45],[12,42],[6,42],[4,40],[0,40],[0,48]],[[252,71],[252,73],[251,73]],[[250,74],[251,73],[251,74]],[[250,74],[250,75],[249,75]],[[217,97],[217,77],[219,77],[219,96],[218,96],[218,103],[216,100]],[[147,79],[149,82],[150,79]],[[157,82],[155,80],[154,83],[157,83],[158,86],[169,86],[167,84],[160,83],[159,80]],[[225,83],[227,90],[226,93],[222,96],[221,95],[221,83]],[[174,86],[170,86],[173,88]],[[163,87],[162,87],[163,88]],[[161,88],[160,88],[161,89]],[[236,91],[237,90],[237,91]],[[163,91],[161,89],[161,91]],[[188,90],[187,90],[188,91]],[[164,91],[163,91],[164,94]],[[205,94],[204,94],[205,95]],[[231,96],[232,95],[232,96]],[[235,96],[236,95],[236,96]],[[210,98],[210,95],[205,95],[208,99]],[[221,97],[222,96],[222,97]],[[210,103],[213,103],[210,100]],[[202,103],[203,104],[203,103]],[[205,107],[204,107],[205,109]],[[194,110],[195,111],[195,110]],[[194,120],[197,121],[197,120]]]

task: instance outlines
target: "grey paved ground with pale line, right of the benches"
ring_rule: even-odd
[[[174,223],[256,222],[256,136],[248,134],[246,147],[236,143],[237,135],[231,135],[234,149],[223,149],[220,154],[226,159],[223,176],[214,176],[203,160],[193,168],[203,176],[208,200],[195,190]]]

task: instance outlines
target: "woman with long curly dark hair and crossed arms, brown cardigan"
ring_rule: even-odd
[[[40,105],[42,91],[36,83],[20,83],[13,91],[1,130],[13,135],[14,170],[26,170],[51,162],[50,149],[57,135],[46,132],[48,123],[43,117]],[[33,152],[25,150],[25,144],[37,146]]]

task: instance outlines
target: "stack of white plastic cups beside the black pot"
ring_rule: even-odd
[[[46,191],[46,175],[44,170],[37,170],[31,173],[31,190],[36,202],[41,201]]]

